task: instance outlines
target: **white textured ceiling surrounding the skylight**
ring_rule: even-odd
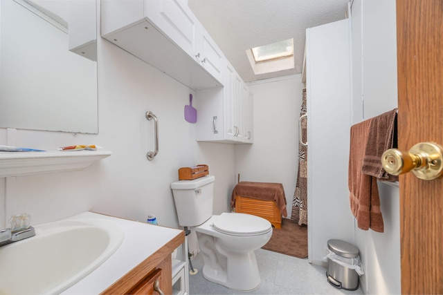
[[[245,82],[302,72],[306,29],[345,19],[349,0],[188,0]],[[254,75],[246,49],[293,38],[295,69]]]

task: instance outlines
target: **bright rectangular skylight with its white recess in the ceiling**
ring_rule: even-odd
[[[246,50],[255,75],[291,70],[295,67],[293,59],[293,39]]]

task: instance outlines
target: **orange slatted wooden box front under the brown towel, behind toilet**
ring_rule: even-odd
[[[235,212],[259,216],[271,222],[275,229],[282,228],[282,215],[274,201],[235,196]]]

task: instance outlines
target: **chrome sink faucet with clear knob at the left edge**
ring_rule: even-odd
[[[12,227],[0,230],[0,247],[35,236],[35,229],[29,225],[29,219],[27,214],[12,216]]]

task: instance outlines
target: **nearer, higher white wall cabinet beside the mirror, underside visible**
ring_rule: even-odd
[[[101,3],[102,37],[192,89],[222,86],[224,56],[209,35],[204,36],[186,1]]]

